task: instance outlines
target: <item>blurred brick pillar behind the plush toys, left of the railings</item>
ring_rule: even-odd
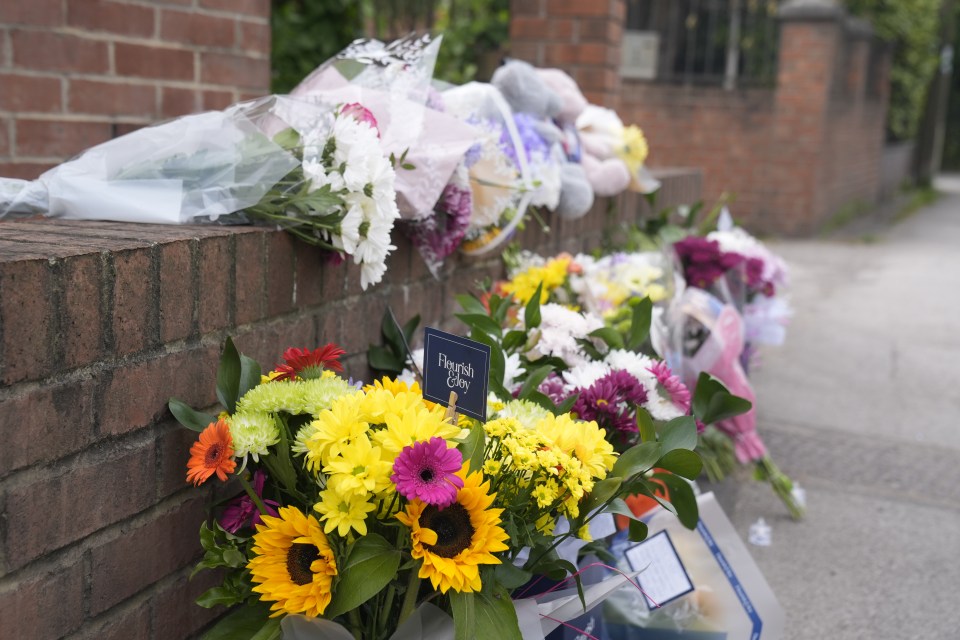
[[[563,69],[594,103],[617,108],[624,0],[511,0],[510,54]]]

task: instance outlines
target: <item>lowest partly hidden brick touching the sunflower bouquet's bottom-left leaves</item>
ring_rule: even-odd
[[[157,625],[158,640],[194,637],[197,631],[223,615],[222,607],[204,609],[196,603],[207,589],[219,586],[222,581],[222,572],[202,571],[190,580],[181,578],[172,582],[154,596],[155,610],[163,612],[163,622]]]

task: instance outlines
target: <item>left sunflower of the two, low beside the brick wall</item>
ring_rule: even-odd
[[[280,517],[261,516],[253,537],[255,556],[247,563],[261,600],[273,601],[271,617],[302,613],[316,617],[330,604],[337,564],[320,523],[296,507]]]

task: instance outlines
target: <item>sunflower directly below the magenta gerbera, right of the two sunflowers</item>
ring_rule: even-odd
[[[467,475],[464,465],[457,474],[463,488],[457,501],[438,509],[419,500],[411,500],[397,519],[410,527],[411,554],[422,559],[419,576],[429,578],[434,589],[446,593],[480,590],[481,564],[500,564],[493,554],[506,551],[509,536],[500,527],[503,509],[490,509],[496,494],[488,493],[489,482],[483,475]]]

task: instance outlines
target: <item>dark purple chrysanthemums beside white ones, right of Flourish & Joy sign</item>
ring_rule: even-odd
[[[628,442],[637,432],[635,408],[647,401],[647,390],[626,371],[611,371],[586,389],[573,411],[583,420],[594,420],[607,430],[608,439],[620,434],[621,442]]]

